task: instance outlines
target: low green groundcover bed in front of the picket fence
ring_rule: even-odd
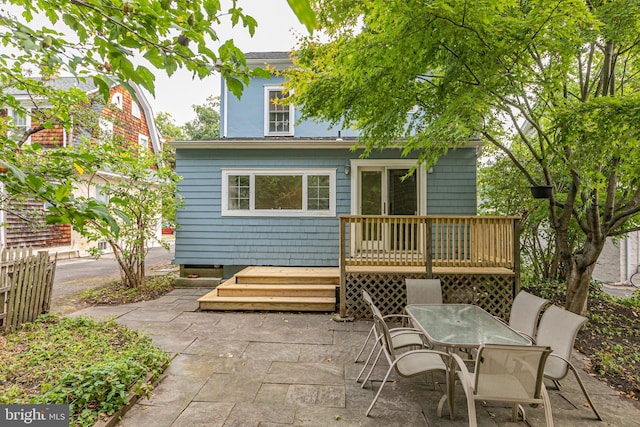
[[[0,336],[0,403],[70,404],[72,426],[91,426],[148,395],[170,356],[114,320],[47,314]]]

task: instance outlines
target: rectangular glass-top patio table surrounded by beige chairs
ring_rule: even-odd
[[[471,304],[408,305],[407,314],[431,345],[453,352],[458,348],[478,348],[483,344],[531,345],[531,341]],[[453,419],[455,361],[451,358],[447,375],[449,416]],[[443,397],[444,398],[444,397]],[[443,400],[438,404],[440,414]]]

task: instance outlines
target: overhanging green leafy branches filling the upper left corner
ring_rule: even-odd
[[[308,0],[288,2],[311,30],[315,15]],[[83,120],[82,109],[90,103],[84,91],[55,89],[47,77],[77,76],[98,87],[106,102],[115,82],[125,87],[133,82],[153,93],[156,70],[170,76],[185,68],[197,77],[221,73],[240,96],[251,76],[269,73],[249,69],[233,41],[219,38],[222,20],[242,25],[250,34],[258,25],[236,0],[5,0],[0,5],[0,109],[5,113],[0,114],[0,165],[9,172],[0,174],[0,181],[18,182],[22,195],[49,202],[61,220],[82,227],[95,212],[71,197],[73,169],[57,180],[21,169],[19,151],[30,134],[54,126],[71,129]],[[26,93],[32,105],[19,102],[11,94],[16,90]],[[25,116],[27,108],[37,125],[20,129],[6,112]],[[66,160],[74,155],[66,152]],[[85,160],[75,156],[81,167]],[[11,188],[17,187],[5,190]]]

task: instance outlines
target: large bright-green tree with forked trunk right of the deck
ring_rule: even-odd
[[[427,163],[481,135],[553,186],[567,308],[584,312],[606,237],[640,212],[640,3],[313,3],[329,42],[306,39],[289,73],[304,117],[355,126],[370,149],[402,139]]]

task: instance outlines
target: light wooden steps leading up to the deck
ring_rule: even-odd
[[[337,268],[248,267],[201,297],[201,310],[335,311]]]

